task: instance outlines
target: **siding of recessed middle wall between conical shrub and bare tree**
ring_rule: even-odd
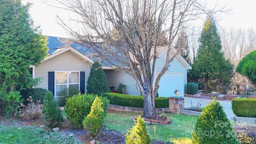
[[[140,91],[135,88],[136,81],[132,76],[126,72],[115,70],[104,70],[108,78],[109,86],[114,86],[114,90],[117,90],[120,82],[126,84],[126,94],[140,96]]]

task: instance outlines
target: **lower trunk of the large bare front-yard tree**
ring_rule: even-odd
[[[147,95],[143,95],[143,99],[144,99],[143,116],[147,116],[147,117],[155,120],[157,117],[156,117],[156,111],[155,111],[154,107],[152,106],[151,93],[148,92]]]

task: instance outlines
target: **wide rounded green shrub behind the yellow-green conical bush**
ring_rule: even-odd
[[[74,125],[74,128],[82,128],[84,116],[87,116],[91,111],[92,103],[98,95],[94,94],[78,94],[68,98],[65,106],[68,120]],[[107,98],[99,97],[102,103],[104,114],[107,114],[109,100]]]

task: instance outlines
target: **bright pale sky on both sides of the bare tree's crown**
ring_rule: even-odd
[[[57,24],[56,15],[67,16],[64,10],[56,9],[44,2],[52,0],[22,0],[23,3],[31,2],[30,15],[36,25],[41,26],[42,34],[47,36],[66,37],[64,29]],[[216,2],[216,0],[208,0]],[[254,16],[254,0],[219,0],[218,4],[229,2],[228,7],[233,9],[233,14],[222,15],[222,20],[218,21],[218,25],[222,28],[256,28],[256,20]],[[202,22],[203,25],[203,22]]]

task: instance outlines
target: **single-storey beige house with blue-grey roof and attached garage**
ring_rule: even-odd
[[[65,46],[59,38],[49,36],[49,51],[46,57],[38,67],[33,67],[33,78],[41,78],[39,88],[50,90],[54,97],[58,97],[58,92],[68,86],[76,86],[82,93],[86,93],[86,82],[90,74],[90,65],[94,62],[92,58],[86,56],[86,50],[79,44],[70,44]],[[156,62],[156,70],[163,66],[166,56],[166,47],[161,47],[162,53]],[[191,66],[181,56],[176,56],[170,63],[170,69],[160,80],[159,96],[174,96],[174,90],[180,90],[179,96],[184,95],[187,83],[187,70]],[[118,88],[120,82],[126,84],[126,93],[131,95],[140,95],[136,88],[136,81],[132,76],[125,72],[116,71],[111,67],[102,66],[106,73],[110,86]]]

